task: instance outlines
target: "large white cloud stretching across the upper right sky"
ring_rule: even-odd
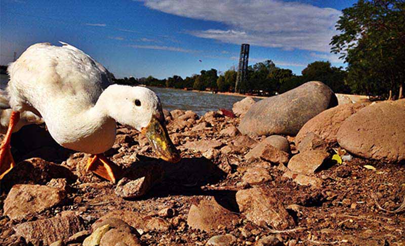
[[[226,43],[329,52],[341,12],[281,0],[143,0],[148,8],[193,19],[217,21],[223,29],[191,30],[192,35]]]

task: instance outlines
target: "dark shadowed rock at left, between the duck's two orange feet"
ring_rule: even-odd
[[[53,178],[66,178],[68,182],[73,182],[77,177],[64,166],[31,158],[11,169],[2,179],[2,186],[9,190],[14,184],[46,184]]]

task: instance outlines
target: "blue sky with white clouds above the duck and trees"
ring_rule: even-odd
[[[270,59],[301,74],[329,60],[341,10],[356,1],[145,0],[0,1],[0,64],[31,44],[72,44],[116,77],[183,78],[236,66],[240,43],[249,64]],[[201,60],[201,62],[199,61]]]

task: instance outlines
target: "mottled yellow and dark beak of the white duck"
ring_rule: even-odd
[[[149,125],[142,129],[142,133],[161,159],[172,163],[180,161],[180,153],[169,137],[163,117],[153,115]]]

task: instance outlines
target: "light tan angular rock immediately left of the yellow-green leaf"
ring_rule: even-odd
[[[287,167],[295,172],[313,174],[328,157],[326,151],[306,151],[293,156]]]

